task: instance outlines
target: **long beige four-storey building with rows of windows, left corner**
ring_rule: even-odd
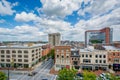
[[[14,45],[0,46],[0,67],[33,68],[41,61],[42,46],[34,45]]]

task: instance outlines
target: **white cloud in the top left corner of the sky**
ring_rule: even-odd
[[[15,4],[15,3],[13,3]],[[0,15],[12,15],[13,13],[15,13],[16,11],[13,10],[12,8],[16,5],[13,5],[10,2],[8,2],[7,0],[1,0],[0,1]]]

